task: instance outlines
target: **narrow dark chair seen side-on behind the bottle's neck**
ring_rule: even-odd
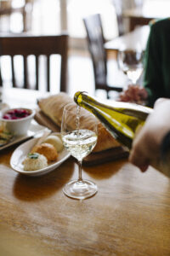
[[[84,18],[83,22],[88,34],[88,49],[93,61],[95,90],[105,90],[109,98],[110,90],[119,92],[122,91],[122,87],[107,83],[107,57],[100,15],[90,15]]]

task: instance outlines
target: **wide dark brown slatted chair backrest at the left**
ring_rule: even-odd
[[[31,84],[28,78],[28,57],[35,56],[35,75],[36,75],[36,90],[39,90],[39,57],[40,55],[46,56],[46,71],[47,71],[47,87],[50,90],[50,56],[60,55],[60,91],[66,91],[66,77],[67,77],[67,51],[68,51],[68,35],[60,34],[55,36],[31,36],[28,34],[9,34],[6,37],[0,36],[0,56],[9,55],[11,60],[11,73],[13,87],[18,87],[15,79],[14,56],[23,56],[23,88],[30,89]],[[2,70],[2,67],[1,67]],[[20,68],[21,72],[22,68]],[[2,74],[0,83],[3,85]]]

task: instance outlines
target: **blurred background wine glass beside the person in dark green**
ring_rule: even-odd
[[[118,67],[127,78],[136,84],[143,72],[143,50],[142,49],[120,49],[117,55]]]

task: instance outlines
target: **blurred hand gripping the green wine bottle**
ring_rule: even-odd
[[[170,131],[170,100],[159,99],[144,126],[133,140],[130,162],[142,172],[160,158],[161,142]]]

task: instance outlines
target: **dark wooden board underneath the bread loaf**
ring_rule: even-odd
[[[51,131],[60,131],[60,127],[55,125],[41,110],[37,109],[35,119],[38,124],[48,127]],[[84,166],[100,165],[112,160],[119,160],[128,157],[128,151],[123,147],[111,148],[105,151],[89,154],[84,158],[82,164]]]

